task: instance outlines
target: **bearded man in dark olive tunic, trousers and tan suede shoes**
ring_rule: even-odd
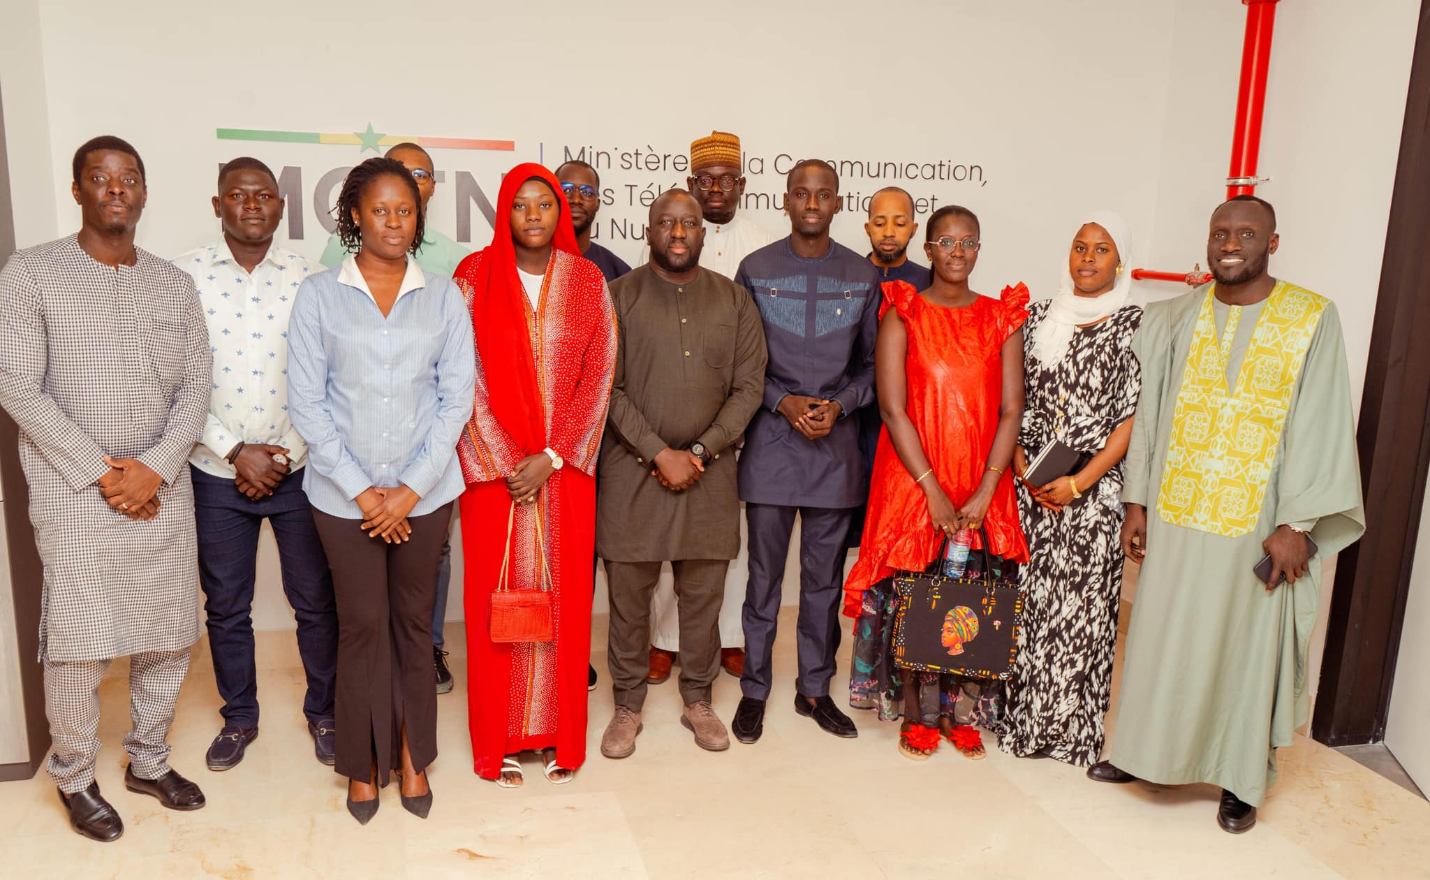
[[[725,571],[739,552],[734,445],[765,382],[759,311],[744,288],[699,266],[699,202],[662,193],[648,239],[651,260],[611,285],[621,336],[596,494],[616,703],[601,753],[611,758],[633,753],[641,733],[651,594],[666,561],[679,602],[681,723],[701,748],[729,747],[711,685]]]

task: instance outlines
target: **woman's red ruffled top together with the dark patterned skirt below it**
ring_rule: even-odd
[[[954,504],[972,495],[988,468],[1002,402],[1002,346],[1027,321],[1027,305],[1024,285],[1004,288],[1001,299],[978,298],[964,308],[934,305],[904,282],[884,285],[884,311],[897,309],[908,329],[908,415]],[[925,569],[942,544],[914,476],[885,428],[874,458],[864,545],[844,587],[844,612],[857,621],[849,705],[877,710],[882,721],[908,718],[930,728],[948,718],[955,725],[954,743],[967,748],[980,744],[980,737],[961,725],[997,730],[1001,724],[1002,683],[904,670],[892,655],[898,597],[889,578],[901,569]],[[1028,542],[1008,474],[998,482],[984,528],[990,564],[1002,577],[1014,577],[1010,564],[1028,561]],[[982,568],[981,555],[970,557],[968,565],[975,575],[974,569]],[[909,704],[907,684],[915,685],[917,704]],[[911,740],[915,748],[937,744],[937,733],[912,730],[922,737]]]

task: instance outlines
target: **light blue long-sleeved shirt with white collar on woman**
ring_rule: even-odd
[[[360,519],[369,487],[406,485],[413,517],[462,494],[456,441],[472,418],[472,319],[452,279],[408,258],[383,318],[353,256],[303,279],[289,319],[289,415],[307,442],[313,507]]]

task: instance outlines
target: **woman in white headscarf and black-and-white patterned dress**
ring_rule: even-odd
[[[1141,392],[1130,302],[1131,242],[1098,212],[1072,239],[1062,282],[1024,328],[1025,408],[1014,469],[1031,562],[1024,647],[1008,683],[1000,747],[1078,767],[1100,758],[1111,701],[1123,587],[1123,456]],[[1055,442],[1080,455],[1065,475],[1030,484],[1028,462]]]

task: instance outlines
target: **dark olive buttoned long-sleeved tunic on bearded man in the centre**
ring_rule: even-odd
[[[701,269],[688,285],[649,265],[611,283],[618,351],[596,472],[596,552],[616,562],[734,559],[735,441],[765,391],[765,329],[749,292]],[[666,446],[712,458],[695,487],[651,475]]]

